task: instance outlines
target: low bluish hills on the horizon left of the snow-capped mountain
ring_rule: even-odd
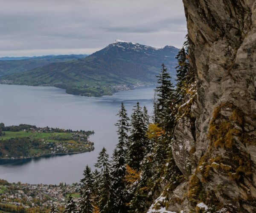
[[[0,58],[0,76],[35,69],[54,62],[64,62],[87,56],[88,55],[43,55],[33,57],[2,57]]]

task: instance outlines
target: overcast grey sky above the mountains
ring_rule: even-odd
[[[182,0],[0,0],[0,57],[91,54],[116,39],[181,47]]]

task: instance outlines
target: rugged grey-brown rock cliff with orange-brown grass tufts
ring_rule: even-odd
[[[172,141],[186,181],[166,209],[256,212],[256,1],[183,3],[197,92]]]

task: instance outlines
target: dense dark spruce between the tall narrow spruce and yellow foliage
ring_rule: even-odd
[[[128,164],[139,171],[140,163],[146,153],[146,127],[143,121],[143,112],[139,102],[134,106],[131,115],[131,135],[128,145]]]

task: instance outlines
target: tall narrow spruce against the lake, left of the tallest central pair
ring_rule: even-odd
[[[118,144],[114,150],[112,157],[111,176],[113,177],[112,188],[114,192],[114,212],[125,213],[127,207],[125,204],[125,174],[126,174],[126,156],[129,131],[129,118],[127,116],[124,104],[121,104],[121,109],[117,114],[119,116],[117,127]]]

